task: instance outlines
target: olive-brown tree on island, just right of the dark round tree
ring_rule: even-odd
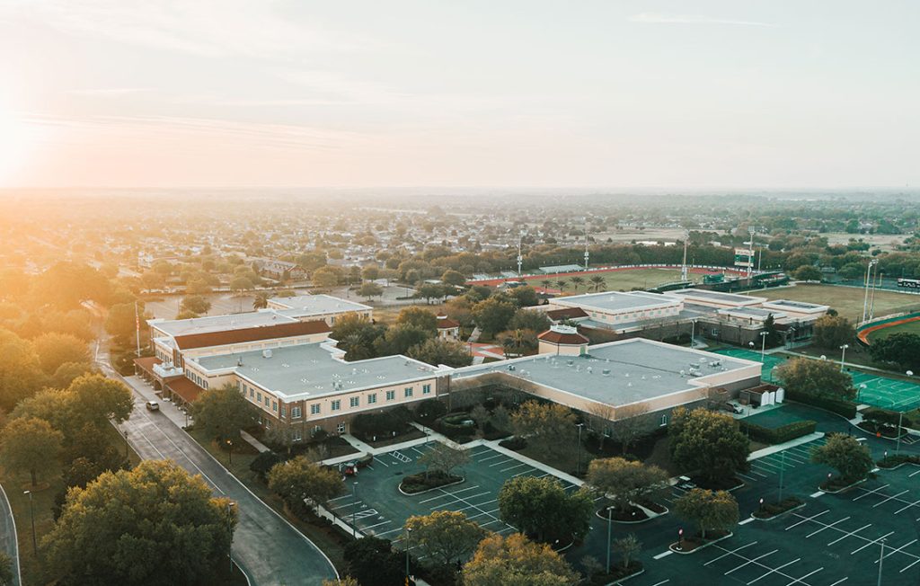
[[[668,474],[656,465],[643,465],[624,458],[592,460],[588,484],[611,500],[617,511],[629,511],[668,484]]]

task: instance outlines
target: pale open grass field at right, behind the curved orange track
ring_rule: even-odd
[[[836,309],[841,316],[853,323],[862,317],[863,290],[857,287],[839,287],[836,285],[798,284],[792,287],[779,287],[752,291],[755,297],[767,299],[791,299],[814,304],[826,304]],[[920,309],[920,296],[894,291],[875,292],[875,315],[887,316],[903,311]]]

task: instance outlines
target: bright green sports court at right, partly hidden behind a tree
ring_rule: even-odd
[[[714,350],[717,354],[761,362],[760,352],[742,348],[723,348]],[[817,360],[817,359],[814,359]],[[786,359],[772,354],[764,355],[763,380],[776,383],[773,369],[786,362]],[[853,386],[857,388],[857,402],[872,407],[891,411],[912,411],[920,408],[920,385],[875,373],[846,369],[853,377]]]

